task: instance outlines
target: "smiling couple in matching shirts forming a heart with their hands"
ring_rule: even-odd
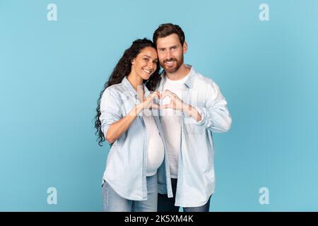
[[[99,143],[110,143],[102,210],[208,212],[214,192],[212,132],[232,119],[218,85],[184,64],[178,25],[136,40],[98,100]],[[160,66],[163,73],[159,73]]]

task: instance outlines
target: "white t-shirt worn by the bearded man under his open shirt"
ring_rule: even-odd
[[[182,99],[182,92],[184,91],[184,83],[189,78],[189,75],[184,78],[172,81],[167,76],[165,77],[163,90],[170,90]],[[161,105],[170,103],[170,97],[165,97]],[[178,175],[178,158],[179,149],[181,145],[181,114],[182,112],[174,109],[162,109],[162,124],[163,133],[165,134],[165,141],[167,144],[167,155],[170,165],[171,178],[177,178]]]

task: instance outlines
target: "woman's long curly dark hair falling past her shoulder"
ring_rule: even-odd
[[[155,48],[155,45],[151,40],[148,40],[146,38],[135,40],[131,47],[125,50],[122,58],[119,59],[117,65],[114,67],[114,71],[112,71],[112,74],[110,75],[109,80],[105,83],[103,90],[100,92],[100,97],[98,98],[98,107],[96,107],[96,116],[95,116],[95,129],[97,130],[95,132],[96,135],[98,135],[98,145],[102,146],[102,142],[105,141],[105,136],[102,133],[102,125],[100,122],[100,99],[102,98],[102,93],[104,93],[105,89],[107,87],[110,87],[111,85],[118,84],[122,82],[122,79],[124,76],[128,76],[131,71],[131,61],[137,57],[137,55],[141,52],[141,50],[145,47],[153,47]],[[151,77],[148,79],[148,81],[143,81],[144,84],[146,84],[146,87],[148,90],[155,90],[158,83],[160,82],[160,64],[159,61],[157,62],[157,69],[155,72],[151,75]]]

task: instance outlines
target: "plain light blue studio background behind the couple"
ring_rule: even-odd
[[[214,136],[211,211],[318,210],[318,1],[0,0],[1,211],[101,210],[98,95],[124,49],[169,22],[232,114]]]

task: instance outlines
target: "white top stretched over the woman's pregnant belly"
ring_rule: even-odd
[[[157,169],[163,163],[164,147],[161,140],[155,119],[149,110],[143,111],[143,121],[145,121],[147,129],[147,173],[150,177],[157,173]]]

